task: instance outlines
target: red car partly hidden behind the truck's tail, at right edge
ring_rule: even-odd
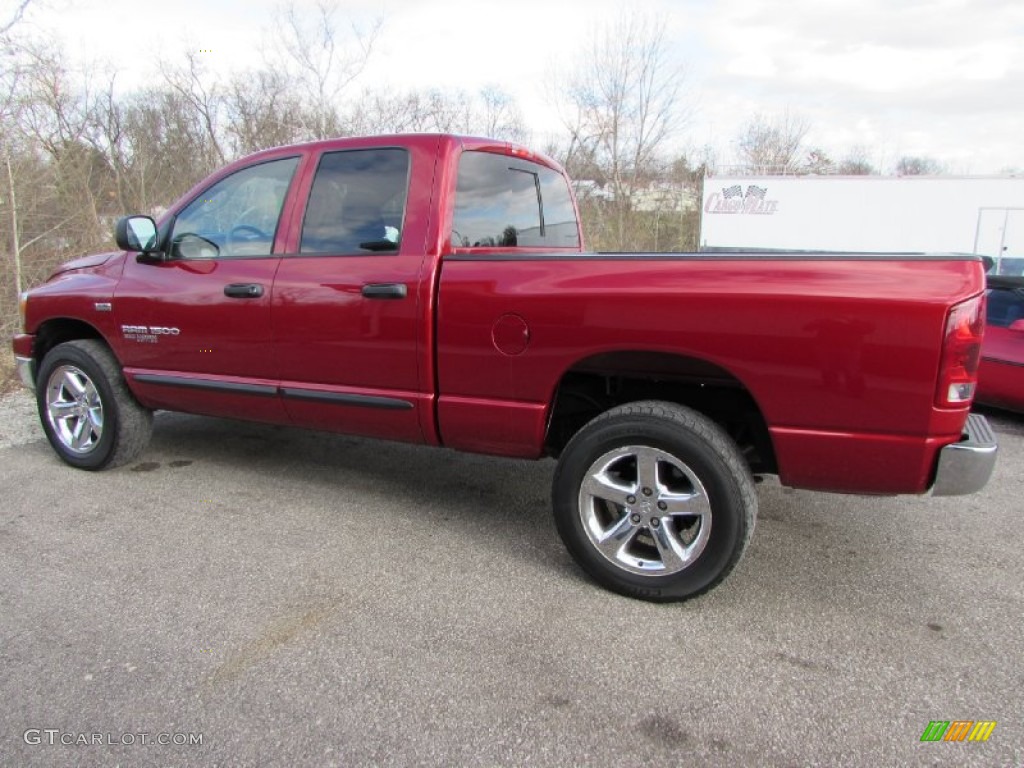
[[[1024,278],[989,274],[976,401],[1024,413]]]

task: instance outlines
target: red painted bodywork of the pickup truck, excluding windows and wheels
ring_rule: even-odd
[[[322,155],[382,146],[411,158],[400,249],[298,254]],[[165,222],[229,173],[298,156],[273,255],[82,261],[33,291],[30,333],[57,317],[89,324],[152,408],[528,458],[543,453],[567,371],[610,352],[681,355],[724,370],[751,392],[784,482],[859,493],[927,487],[936,452],[958,438],[969,407],[935,403],[947,314],[982,292],[978,262],[452,249],[458,159],[467,148],[559,170],[522,147],[446,135],[271,150],[197,184]],[[523,255],[545,258],[509,258]],[[263,294],[225,296],[237,283]],[[408,294],[368,298],[367,284],[401,285]],[[96,311],[96,301],[113,311]],[[179,333],[142,344],[126,340],[123,326]],[[31,343],[31,335],[18,337],[15,350],[24,355]],[[138,378],[154,375],[221,389]],[[284,396],[296,389],[308,397]]]

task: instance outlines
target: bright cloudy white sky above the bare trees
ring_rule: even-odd
[[[14,0],[0,0],[0,19]],[[311,9],[310,0],[296,0]],[[32,0],[20,29],[125,87],[202,50],[211,70],[260,63],[280,0]],[[152,9],[151,9],[152,8]],[[629,9],[663,19],[688,117],[681,151],[736,161],[754,114],[788,111],[806,143],[891,170],[928,156],[956,174],[1024,172],[1022,0],[340,0],[340,16],[382,19],[356,88],[476,90],[516,98],[532,143],[559,127],[553,76]],[[264,53],[261,53],[264,51]]]

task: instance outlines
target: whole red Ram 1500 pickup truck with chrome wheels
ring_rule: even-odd
[[[980,260],[607,254],[565,173],[489,139],[286,146],[202,181],[23,297],[50,443],[101,469],[157,409],[558,458],[557,527],[649,600],[720,582],[755,479],[972,493]]]

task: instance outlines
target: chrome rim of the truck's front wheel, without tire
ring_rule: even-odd
[[[75,366],[60,366],[46,382],[46,418],[57,439],[88,454],[103,435],[103,403],[96,385]]]

